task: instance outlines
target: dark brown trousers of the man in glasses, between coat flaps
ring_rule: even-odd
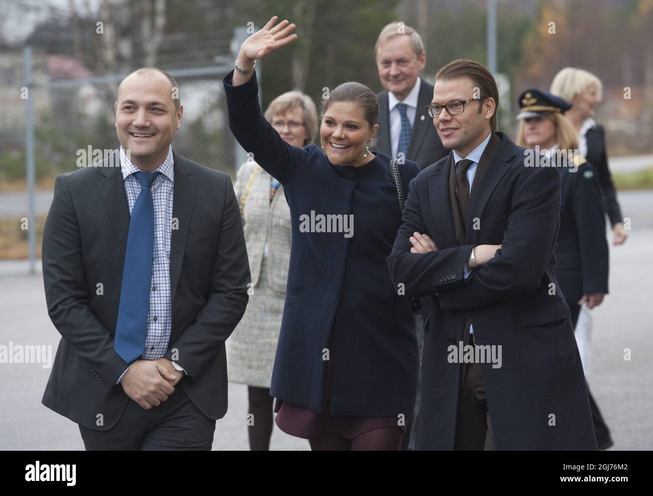
[[[469,324],[466,323],[463,332],[463,346],[474,344]],[[460,384],[454,450],[496,450],[481,364],[460,364]]]

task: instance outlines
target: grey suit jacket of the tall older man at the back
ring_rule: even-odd
[[[377,149],[381,153],[392,156],[388,91],[381,91],[376,97],[379,100],[379,132],[377,133],[379,142]],[[417,162],[420,169],[425,169],[449,154],[449,150],[442,146],[432,118],[428,116],[424,109],[426,105],[430,105],[432,99],[433,85],[422,79],[419,95],[417,96],[415,123],[413,124],[413,131],[406,152],[406,159]]]

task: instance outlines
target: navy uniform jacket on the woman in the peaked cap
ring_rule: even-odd
[[[569,305],[582,295],[608,292],[608,244],[596,170],[585,162],[560,170],[560,233],[556,278]]]

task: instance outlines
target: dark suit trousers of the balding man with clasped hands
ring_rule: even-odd
[[[116,425],[108,431],[95,431],[83,425],[79,428],[88,451],[210,451],[215,420],[202,414],[177,384],[166,401],[150,410],[130,399]]]

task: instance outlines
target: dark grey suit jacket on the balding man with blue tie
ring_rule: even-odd
[[[188,374],[177,387],[217,420],[227,411],[224,343],[247,305],[245,240],[229,176],[173,157],[178,229],[173,224],[165,357],[176,350]],[[57,177],[42,246],[48,313],[62,336],[42,403],[100,431],[113,427],[131,401],[113,385],[128,365],[114,352],[114,335],[129,207],[120,167],[110,163],[119,159]]]

